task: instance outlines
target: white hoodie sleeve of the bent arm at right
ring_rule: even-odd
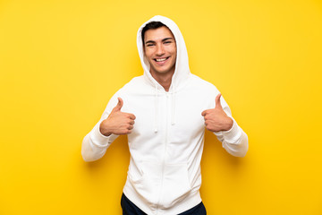
[[[221,98],[221,104],[227,116],[233,119],[230,108],[225,99]],[[215,133],[217,139],[223,143],[223,148],[235,157],[245,157],[249,144],[248,136],[242,131],[242,128],[237,125],[233,119],[233,127],[229,131]]]

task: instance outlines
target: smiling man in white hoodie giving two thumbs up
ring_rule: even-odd
[[[199,194],[205,127],[238,157],[248,150],[247,135],[216,87],[191,74],[173,21],[155,16],[145,22],[137,44],[144,74],[114,94],[82,142],[83,159],[101,158],[118,135],[127,134],[123,214],[206,214]]]

